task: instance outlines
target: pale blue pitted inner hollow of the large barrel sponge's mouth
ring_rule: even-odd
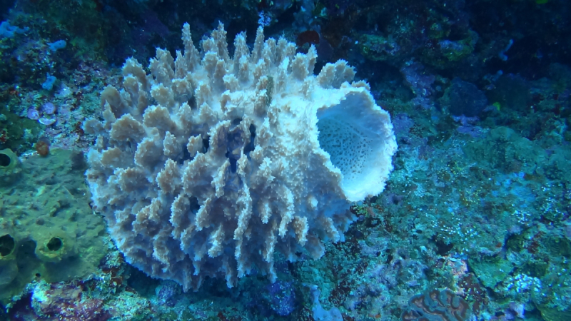
[[[381,172],[391,167],[390,155],[387,160],[378,159],[385,150],[379,131],[385,120],[375,111],[378,106],[373,106],[368,96],[351,93],[337,105],[318,111],[319,146],[343,174],[342,187],[352,201],[380,193]]]

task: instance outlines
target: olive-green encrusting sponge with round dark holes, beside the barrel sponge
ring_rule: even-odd
[[[21,162],[19,180],[0,185],[0,302],[34,278],[86,277],[107,253],[105,225],[89,207],[85,161],[54,150]]]

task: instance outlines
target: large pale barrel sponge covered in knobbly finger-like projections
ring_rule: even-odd
[[[396,150],[390,116],[345,61],[313,75],[317,54],[285,39],[253,50],[222,24],[184,52],[157,49],[146,74],[129,58],[123,86],[101,93],[86,172],[94,209],[129,263],[185,290],[229,287],[274,255],[320,258],[355,220],[350,203],[383,191]]]

